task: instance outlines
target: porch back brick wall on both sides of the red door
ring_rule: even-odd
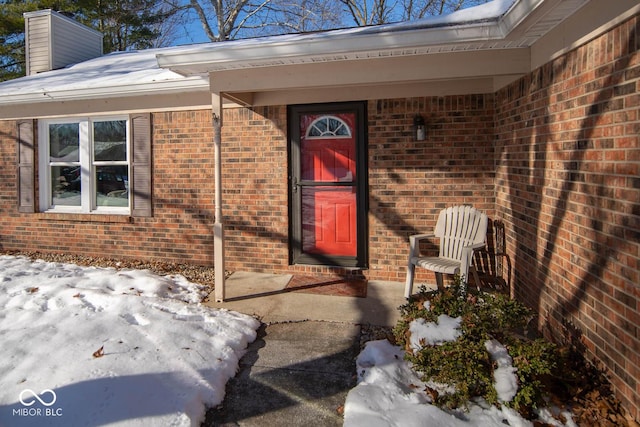
[[[431,231],[442,208],[493,212],[493,103],[492,95],[368,103],[365,276],[404,280],[408,236]],[[417,113],[428,123],[426,141],[413,141]],[[289,265],[286,107],[226,110],[222,139],[227,269],[359,273]],[[416,279],[435,280],[426,272]]]

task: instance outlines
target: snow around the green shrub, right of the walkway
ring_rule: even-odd
[[[459,335],[460,319],[446,315],[437,323],[414,320],[411,331],[411,347],[455,340]],[[417,339],[414,341],[413,336]],[[422,344],[418,344],[422,342]],[[498,366],[494,371],[494,386],[499,400],[507,402],[517,392],[515,368],[506,348],[492,340],[486,343],[487,351]],[[470,403],[468,411],[445,412],[431,404],[431,397],[424,391],[430,388],[446,391],[446,386],[424,383],[404,360],[404,351],[387,340],[370,341],[356,360],[358,385],[347,395],[344,427],[532,427],[533,423],[522,418],[513,409]],[[575,426],[571,415],[565,413],[567,424],[555,420],[551,411],[541,410],[540,420],[555,426]]]

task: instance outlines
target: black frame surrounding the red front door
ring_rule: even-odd
[[[356,256],[308,254],[302,251],[302,191],[297,182],[300,177],[300,116],[303,114],[354,113],[356,117]],[[368,152],[367,104],[365,101],[323,104],[289,105],[288,162],[289,162],[289,262],[339,267],[366,268],[368,266]]]

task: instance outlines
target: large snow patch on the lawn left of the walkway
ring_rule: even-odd
[[[199,426],[259,326],[202,296],[182,276],[1,256],[0,426]]]

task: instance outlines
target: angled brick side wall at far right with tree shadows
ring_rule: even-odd
[[[496,209],[515,295],[640,410],[640,19],[496,94]]]

